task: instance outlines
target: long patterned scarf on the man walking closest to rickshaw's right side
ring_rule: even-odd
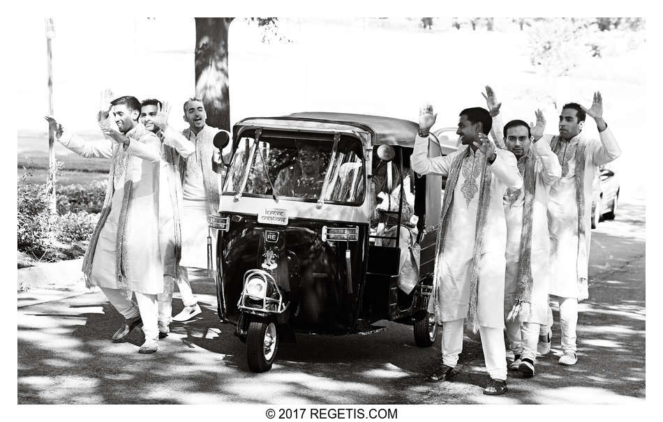
[[[475,153],[479,153],[476,151]],[[463,153],[460,153],[452,162],[449,169],[449,176],[447,177],[447,185],[445,186],[445,197],[442,202],[442,213],[440,215],[440,231],[438,232],[437,246],[435,246],[435,271],[433,273],[433,292],[435,294],[434,310],[435,316],[438,321],[442,321],[440,315],[440,291],[439,279],[442,274],[442,254],[445,251],[445,240],[447,238],[447,230],[449,229],[449,221],[451,220],[454,191],[456,190],[456,183],[458,182],[459,174],[463,165],[463,158],[470,156],[470,147],[468,146]],[[468,318],[470,327],[475,333],[479,329],[479,317],[477,314],[477,300],[479,293],[479,258],[481,250],[484,245],[484,227],[486,226],[486,216],[488,215],[488,207],[491,199],[491,181],[493,173],[488,169],[486,157],[482,154],[481,158],[481,183],[479,185],[479,209],[477,211],[477,224],[475,231],[475,246],[470,261],[470,309],[468,310]]]

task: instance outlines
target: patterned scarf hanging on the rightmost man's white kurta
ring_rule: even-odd
[[[570,142],[570,141],[569,141]],[[559,155],[562,148],[562,140],[559,136],[553,137],[550,142],[551,149]],[[585,149],[586,144],[578,142],[575,151],[576,168],[574,182],[576,187],[576,206],[578,209],[578,251],[576,258],[576,272],[579,284],[587,284],[587,240],[585,225]],[[560,164],[563,160],[560,160]],[[579,299],[587,299],[579,298]]]

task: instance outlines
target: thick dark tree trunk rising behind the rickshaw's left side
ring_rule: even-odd
[[[207,124],[230,130],[228,29],[234,17],[195,18],[195,95],[207,111]]]

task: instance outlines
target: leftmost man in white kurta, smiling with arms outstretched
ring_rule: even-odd
[[[66,148],[85,158],[112,160],[103,208],[83,259],[83,273],[86,285],[100,287],[125,318],[112,340],[126,340],[131,330],[142,324],[145,342],[138,352],[153,353],[158,350],[157,294],[163,292],[155,218],[158,190],[154,189],[161,153],[158,137],[138,123],[139,114],[140,103],[135,97],[112,100],[98,115],[105,137],[112,140],[103,144],[86,142],[65,132],[53,117],[46,119]],[[112,128],[112,119],[119,132]]]

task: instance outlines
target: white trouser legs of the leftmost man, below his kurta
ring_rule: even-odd
[[[134,302],[126,299],[121,289],[109,289],[108,287],[100,287],[100,289],[111,305],[117,309],[117,312],[120,312],[126,319],[140,315],[143,322],[142,330],[146,339],[156,340],[158,338],[156,294],[134,292],[136,298]]]

